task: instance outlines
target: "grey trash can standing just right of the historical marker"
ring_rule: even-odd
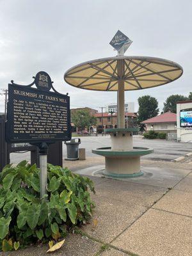
[[[79,144],[80,139],[72,139],[70,141],[65,141],[67,146],[67,158],[65,160],[75,161],[79,159]]]

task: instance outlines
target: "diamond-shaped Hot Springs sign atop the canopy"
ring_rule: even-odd
[[[129,37],[125,36],[124,33],[118,30],[109,44],[112,45],[116,51],[120,51],[120,49],[122,49],[122,47],[125,46],[125,52],[131,45],[131,43],[132,41],[129,39]]]

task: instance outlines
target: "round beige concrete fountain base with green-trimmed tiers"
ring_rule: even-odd
[[[140,157],[154,152],[152,148],[132,147],[132,132],[137,128],[106,129],[111,135],[111,147],[93,149],[92,153],[104,156],[104,175],[111,177],[138,177],[141,172]]]

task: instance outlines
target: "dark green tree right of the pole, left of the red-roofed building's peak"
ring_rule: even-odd
[[[150,95],[145,95],[138,98],[139,110],[138,110],[138,122],[147,120],[157,116],[159,113],[157,99]]]

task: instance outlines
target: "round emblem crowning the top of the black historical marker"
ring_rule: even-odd
[[[41,91],[48,92],[51,89],[51,77],[44,71],[40,71],[35,76],[35,85]]]

